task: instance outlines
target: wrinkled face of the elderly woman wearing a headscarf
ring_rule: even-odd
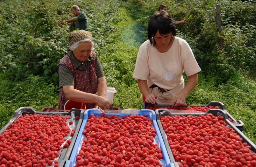
[[[76,59],[80,62],[86,61],[92,52],[92,46],[91,42],[80,42],[78,47],[73,51]]]

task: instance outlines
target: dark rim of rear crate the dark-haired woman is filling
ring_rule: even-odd
[[[149,103],[147,102],[143,102],[143,109],[146,109],[146,107],[148,107]],[[152,104],[151,104],[152,105]],[[161,105],[161,104],[155,104],[155,106],[159,106],[161,107],[162,109],[164,109],[164,107],[171,107],[171,105]],[[181,105],[180,107],[188,107],[188,106],[191,106],[192,105]],[[213,106],[213,107],[216,107],[218,106],[219,109],[225,111],[228,115],[228,118],[230,118],[232,121],[232,123],[242,132],[243,131],[243,128],[244,128],[244,123],[243,121],[241,120],[236,120],[225,108],[225,105],[221,102],[218,102],[218,101],[211,101],[209,102],[208,104],[203,104],[203,105],[195,105],[195,106],[201,106],[201,107],[209,107],[209,106]]]

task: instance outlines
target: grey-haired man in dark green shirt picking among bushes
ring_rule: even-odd
[[[71,12],[74,14],[76,17],[69,19],[69,20],[64,20],[61,21],[61,24],[65,23],[72,23],[72,26],[79,30],[88,30],[88,24],[87,24],[87,17],[84,12],[80,11],[77,5],[73,5],[71,7]]]

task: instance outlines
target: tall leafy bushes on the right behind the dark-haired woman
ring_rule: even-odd
[[[174,20],[187,19],[187,24],[176,26],[177,36],[188,41],[203,73],[219,76],[218,84],[228,81],[236,71],[251,71],[255,75],[255,3],[228,0],[130,2],[146,16],[164,4]],[[221,33],[217,33],[215,26],[217,4],[221,7]],[[218,38],[224,41],[222,48],[217,44]]]

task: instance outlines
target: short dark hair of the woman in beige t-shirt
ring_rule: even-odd
[[[161,35],[172,33],[172,36],[176,36],[176,28],[174,20],[171,15],[166,11],[156,11],[150,18],[148,23],[148,39],[150,44],[155,46],[153,36],[159,31]]]

